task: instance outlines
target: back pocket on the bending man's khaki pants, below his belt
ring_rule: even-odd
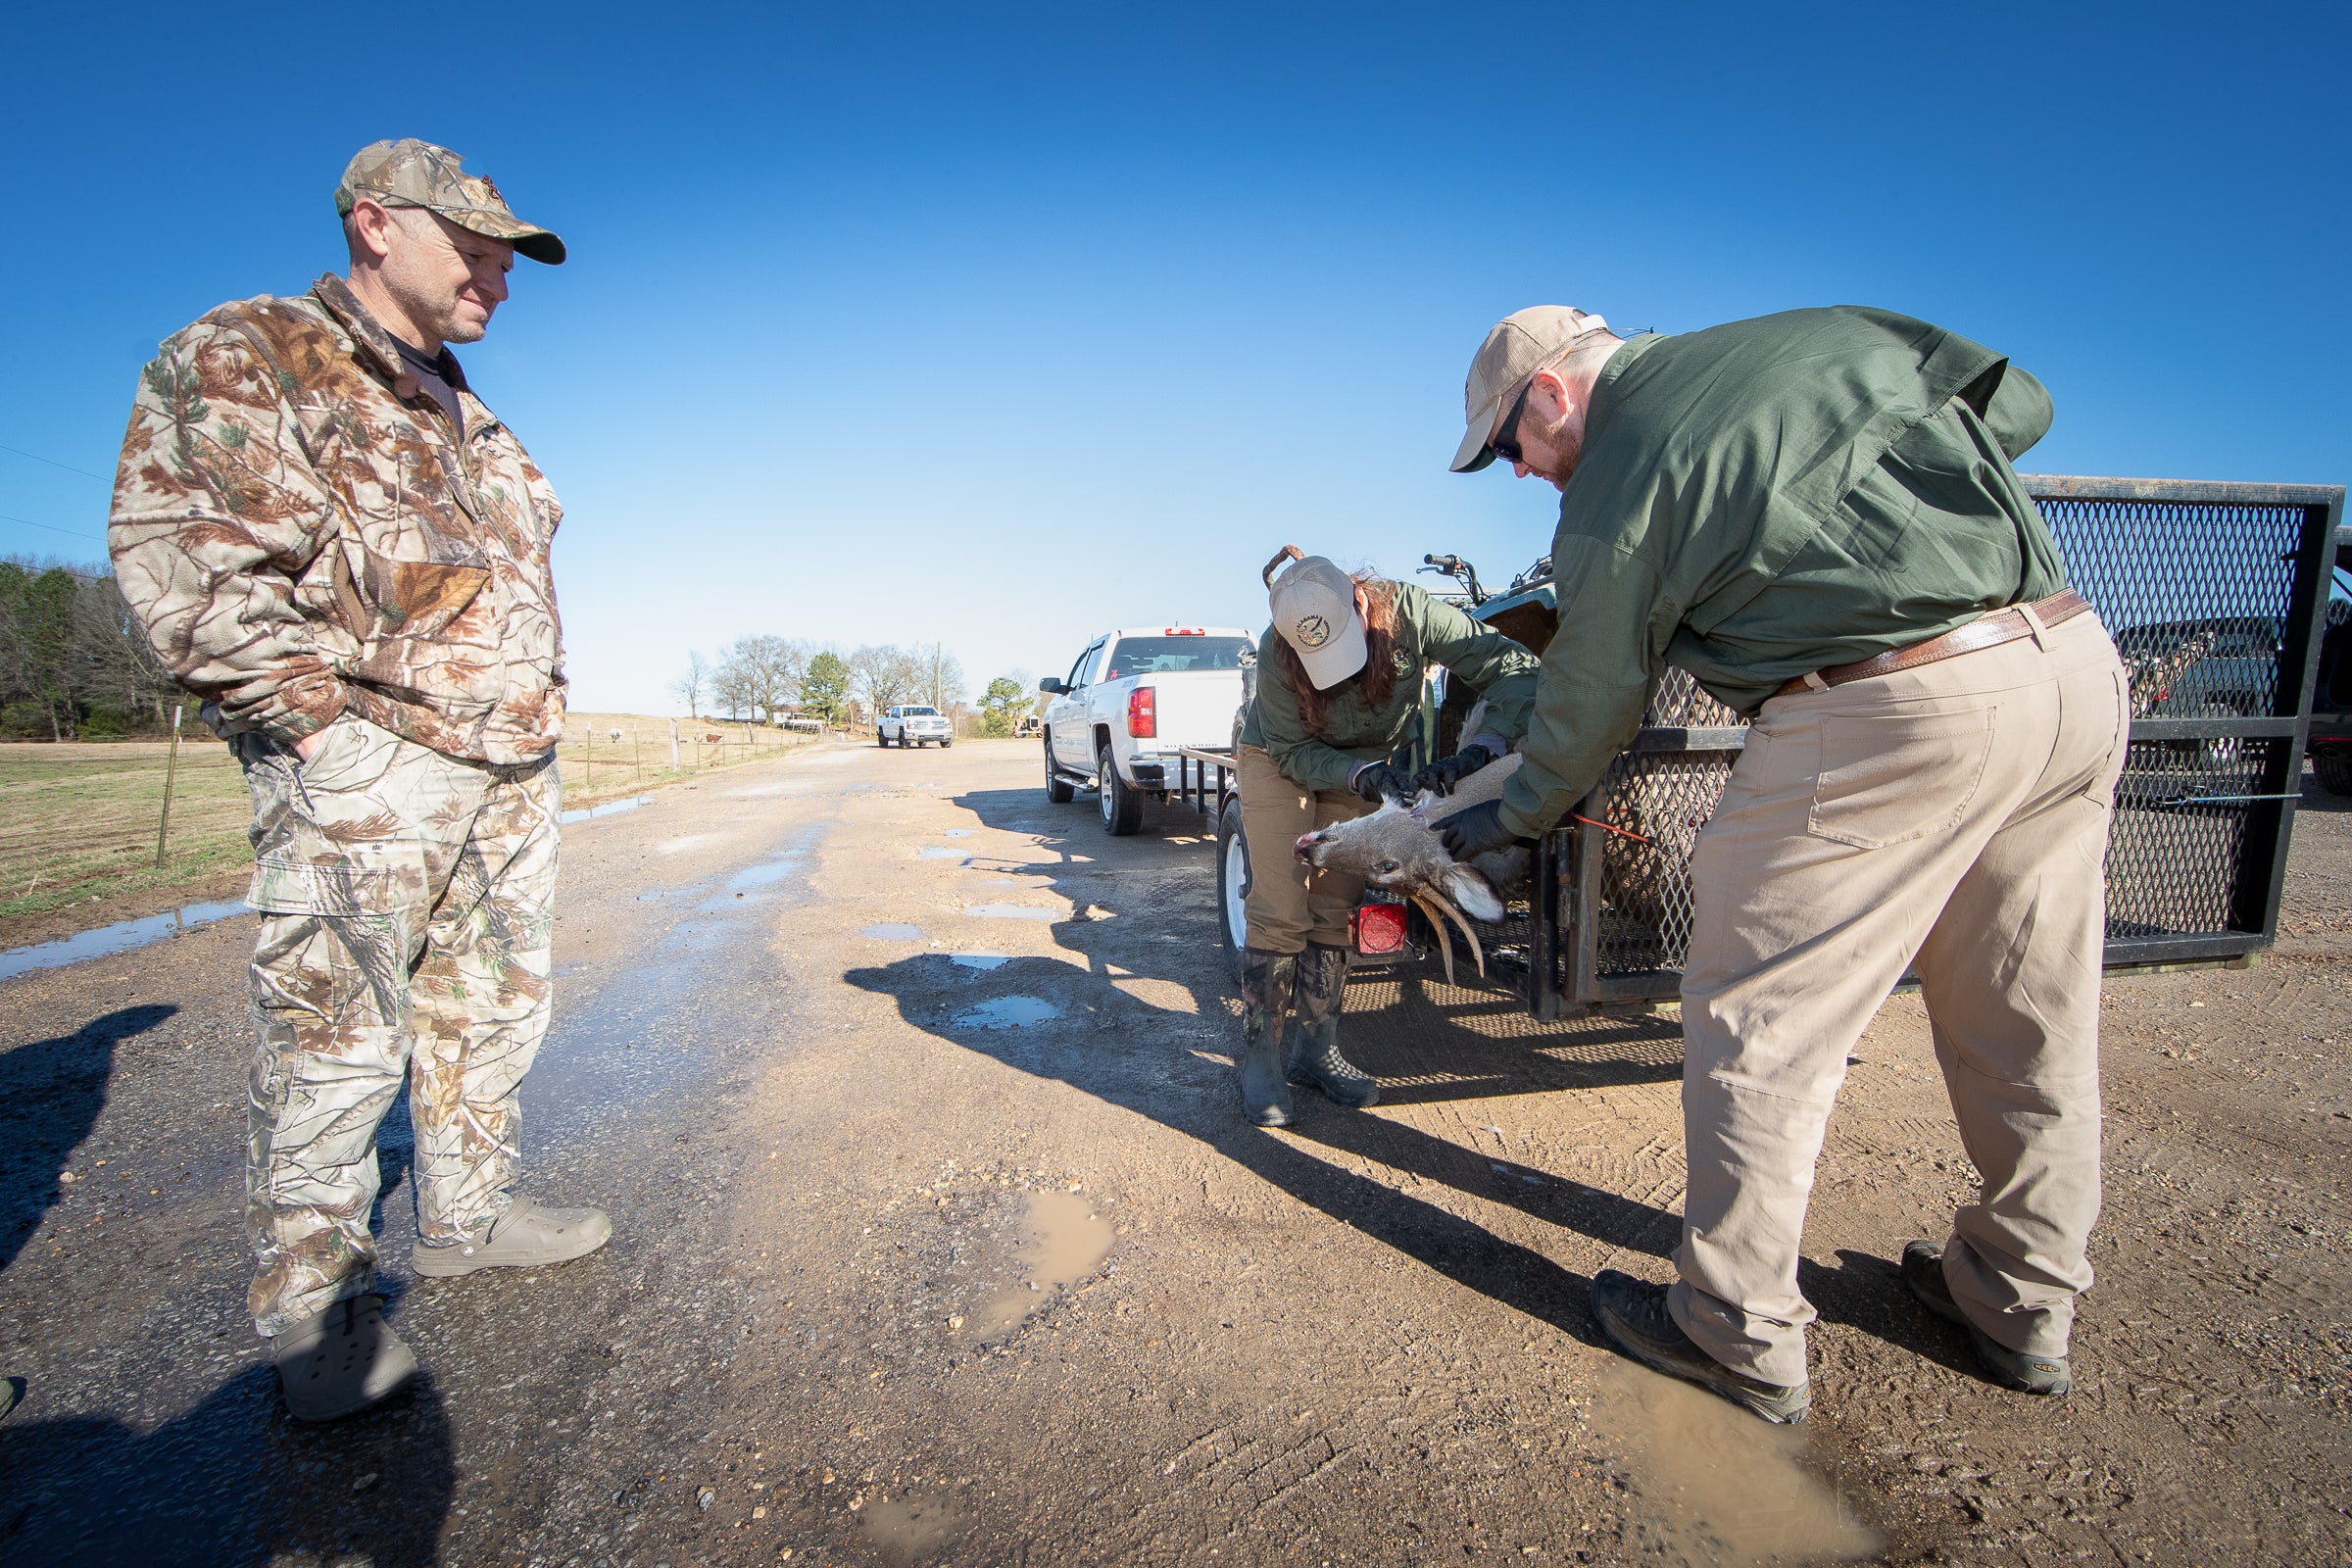
[[[1994,712],[1825,717],[1806,825],[1856,849],[1959,827],[1985,780]]]

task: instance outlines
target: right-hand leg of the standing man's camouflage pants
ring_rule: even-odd
[[[496,769],[409,983],[416,1232],[445,1241],[506,1208],[522,1074],[548,1032],[555,929],[553,764]]]

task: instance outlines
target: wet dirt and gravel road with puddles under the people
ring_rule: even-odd
[[[2352,1554],[2352,813],[2253,971],[2107,985],[2077,1392],[1900,1298],[1969,1187],[1915,999],[1856,1051],[1809,1427],[1625,1368],[1672,1016],[1359,978],[1383,1105],[1240,1124],[1209,849],[1033,743],[811,750],[564,844],[527,1182],[616,1239],[383,1281],[414,1396],[303,1429],[242,1314],[247,917],[0,985],[7,1563],[2338,1563]],[[66,1180],[71,1175],[71,1180]]]

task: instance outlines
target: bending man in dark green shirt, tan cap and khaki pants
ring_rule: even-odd
[[[2004,1387],[2063,1394],[2098,1218],[2103,858],[2129,701],[2011,461],[2051,423],[2002,355],[1889,310],[1618,339],[1505,317],[1456,473],[1559,489],[1559,630],[1526,762],[1446,823],[1541,835],[1668,665],[1752,719],[1691,853],[1679,1281],[1602,1272],[1628,1354],[1809,1408],[1797,1258],[1849,1048],[1917,969],[1983,1192],[1903,1279]]]

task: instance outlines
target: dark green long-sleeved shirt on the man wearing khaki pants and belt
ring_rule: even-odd
[[[1790,677],[2065,588],[2009,465],[2049,425],[2039,381],[1891,310],[1625,343],[1559,494],[1559,632],[1503,823],[1573,811],[1668,665],[1752,717]]]

